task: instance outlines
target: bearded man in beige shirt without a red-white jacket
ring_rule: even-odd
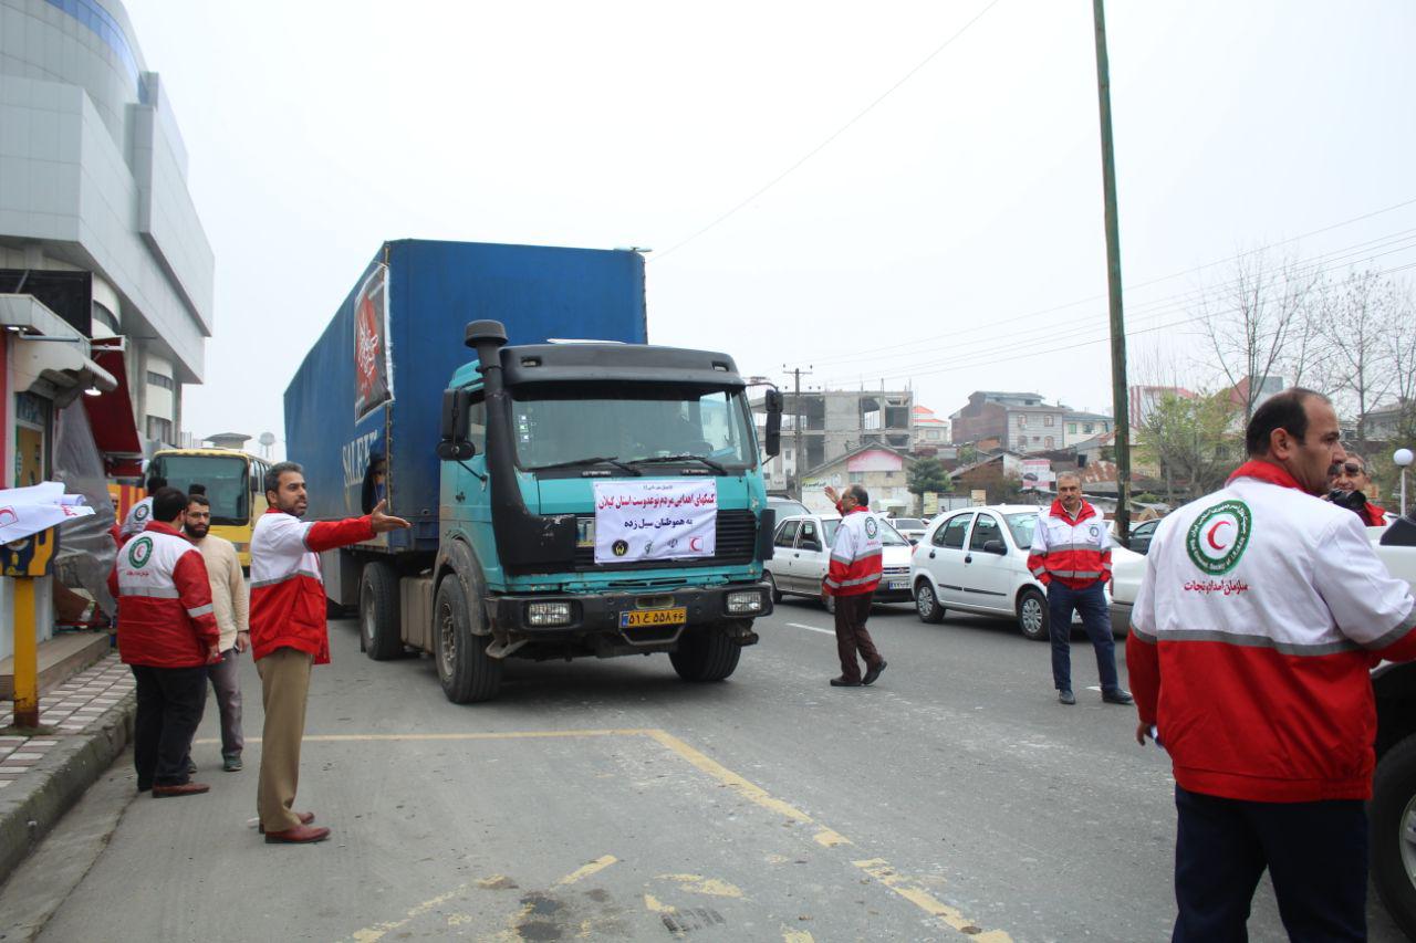
[[[246,582],[241,578],[241,559],[235,545],[211,534],[211,501],[204,494],[187,496],[187,538],[201,551],[211,581],[212,615],[221,629],[221,661],[207,667],[211,690],[221,711],[221,767],[228,773],[241,769],[241,653],[251,647],[246,619]]]

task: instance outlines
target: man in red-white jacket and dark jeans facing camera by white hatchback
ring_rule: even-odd
[[[1082,498],[1082,479],[1072,471],[1058,474],[1058,500],[1038,514],[1032,530],[1028,569],[1048,588],[1048,634],[1052,639],[1052,684],[1058,701],[1076,704],[1072,694],[1072,612],[1082,615],[1096,671],[1102,677],[1102,699],[1130,704],[1116,674],[1116,641],[1104,586],[1112,581],[1112,547],[1106,521]]]

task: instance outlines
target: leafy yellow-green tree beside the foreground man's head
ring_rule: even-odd
[[[1223,392],[1164,394],[1155,402],[1136,430],[1136,449],[1160,469],[1167,503],[1223,484],[1238,459],[1239,442],[1229,432],[1236,412]]]

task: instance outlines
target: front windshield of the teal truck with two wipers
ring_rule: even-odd
[[[739,391],[677,385],[521,387],[513,395],[513,435],[523,469],[612,456],[629,463],[698,456],[725,467],[756,464]],[[685,464],[705,467],[685,460]],[[646,473],[653,466],[641,466]]]

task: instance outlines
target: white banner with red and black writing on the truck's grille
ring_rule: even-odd
[[[595,562],[712,556],[718,483],[596,481]]]

